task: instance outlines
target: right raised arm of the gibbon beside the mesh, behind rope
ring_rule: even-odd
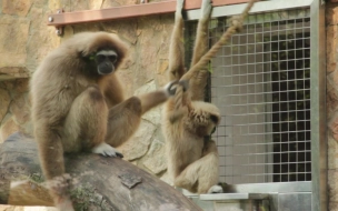
[[[201,4],[201,18],[199,19],[197,27],[196,41],[193,47],[193,56],[191,60],[191,67],[195,66],[202,56],[206,54],[209,48],[208,42],[208,24],[210,19],[212,7],[211,0],[202,0]],[[203,100],[205,88],[208,80],[208,67],[197,71],[190,80],[190,93],[191,100]]]

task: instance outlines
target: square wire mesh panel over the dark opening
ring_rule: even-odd
[[[212,59],[220,181],[311,180],[309,17],[309,9],[252,14]],[[211,20],[211,44],[227,27]]]

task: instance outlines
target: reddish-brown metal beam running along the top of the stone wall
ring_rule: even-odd
[[[249,0],[213,0],[212,6],[243,3]],[[186,1],[185,10],[200,8],[201,0]],[[48,26],[66,26],[83,22],[108,21],[140,16],[170,13],[176,10],[176,1],[162,1],[135,6],[122,6],[101,10],[84,10],[76,12],[53,13],[48,17]]]

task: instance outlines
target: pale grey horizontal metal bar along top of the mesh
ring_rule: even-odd
[[[287,9],[295,9],[295,8],[304,8],[309,7],[314,0],[275,0],[275,1],[261,1],[256,2],[252,9],[250,10],[251,13],[259,13],[259,12],[269,12],[276,10],[287,10]],[[248,2],[248,1],[247,1]],[[228,3],[230,4],[230,3]],[[215,4],[213,4],[215,6]],[[215,7],[212,9],[211,18],[218,17],[230,17],[235,14],[240,14],[246,4],[233,4],[233,6],[221,6]],[[200,10],[190,10],[187,12],[188,20],[197,20],[199,19]]]

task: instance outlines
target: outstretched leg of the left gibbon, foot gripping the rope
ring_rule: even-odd
[[[143,113],[175,94],[171,90],[173,83],[168,83],[163,90],[131,97],[112,107],[108,115],[107,143],[118,147],[126,142],[138,129]]]

